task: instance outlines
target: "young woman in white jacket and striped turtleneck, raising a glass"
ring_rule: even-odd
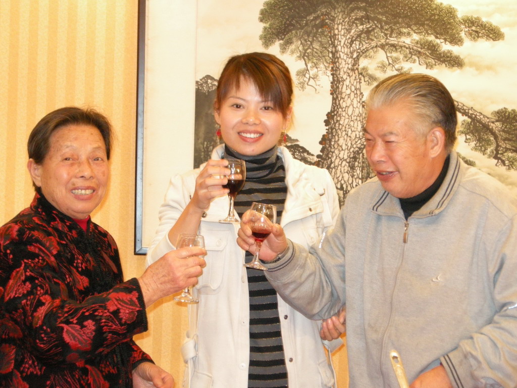
[[[292,96],[291,74],[277,57],[248,53],[230,58],[214,103],[224,144],[199,169],[174,176],[160,207],[147,264],[175,249],[183,232],[202,234],[208,252],[194,289],[200,303],[189,305],[190,330],[182,348],[188,360],[187,386],[334,385],[321,322],[288,306],[263,271],[244,267],[252,257],[236,243],[239,225],[219,222],[229,208],[229,190],[223,185],[230,171],[225,158],[232,157],[245,160],[247,169],[235,200],[238,215],[252,202],[274,204],[287,236],[305,246],[317,243],[332,227],[339,203],[329,173],[295,160],[278,146],[291,122]],[[332,338],[344,330],[343,314],[333,317],[338,333]],[[341,344],[333,342],[332,349]]]

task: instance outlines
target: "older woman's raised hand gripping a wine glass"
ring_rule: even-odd
[[[185,247],[165,253],[138,278],[145,306],[149,307],[164,296],[174,294],[197,284],[203,273],[206,250],[200,247]]]

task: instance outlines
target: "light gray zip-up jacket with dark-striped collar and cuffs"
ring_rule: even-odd
[[[376,178],[352,190],[332,233],[268,264],[312,319],[346,303],[350,387],[411,383],[442,362],[452,385],[517,386],[517,200],[451,153],[445,181],[406,221]]]

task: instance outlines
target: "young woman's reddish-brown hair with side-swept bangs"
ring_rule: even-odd
[[[287,66],[275,55],[254,52],[232,56],[217,83],[214,109],[240,86],[241,78],[251,81],[265,100],[271,101],[284,118],[293,98],[293,79]]]

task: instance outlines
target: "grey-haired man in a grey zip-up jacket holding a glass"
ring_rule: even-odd
[[[453,151],[457,115],[433,77],[398,74],[367,99],[375,177],[310,251],[276,225],[266,275],[312,319],[346,304],[350,386],[517,386],[517,200]],[[242,218],[238,243],[254,251]],[[295,360],[296,361],[296,360]]]

